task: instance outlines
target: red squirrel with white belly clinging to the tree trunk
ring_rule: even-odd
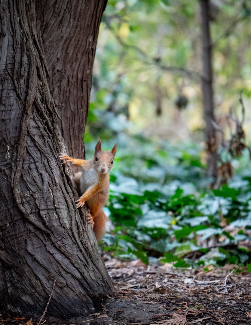
[[[70,162],[82,169],[82,172],[74,176],[74,181],[82,194],[76,203],[78,208],[86,203],[90,209],[88,220],[93,226],[97,240],[101,240],[106,233],[106,221],[109,220],[103,208],[109,196],[109,172],[112,169],[116,152],[117,143],[111,151],[104,151],[101,149],[99,140],[95,147],[94,159],[74,159],[63,153],[59,156],[64,163]]]

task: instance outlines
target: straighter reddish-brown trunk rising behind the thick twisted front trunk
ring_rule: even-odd
[[[59,129],[70,157],[85,158],[84,130],[98,29],[107,0],[40,2],[41,35]]]

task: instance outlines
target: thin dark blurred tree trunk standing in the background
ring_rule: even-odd
[[[202,62],[203,77],[201,78],[204,119],[206,122],[206,152],[207,152],[207,171],[208,176],[217,179],[217,142],[216,130],[212,124],[214,118],[214,100],[213,100],[213,70],[211,62],[211,37],[209,29],[210,7],[209,0],[201,0],[201,24],[202,24]]]

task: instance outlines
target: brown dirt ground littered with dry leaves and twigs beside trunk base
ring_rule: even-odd
[[[117,297],[107,297],[89,316],[60,325],[251,324],[251,274],[231,273],[237,266],[209,267],[210,271],[204,272],[175,270],[171,265],[145,266],[141,261],[121,263],[109,256],[105,259]],[[24,322],[0,319],[0,325]],[[47,320],[43,325],[56,324]]]

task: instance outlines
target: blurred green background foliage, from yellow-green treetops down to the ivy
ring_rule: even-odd
[[[221,114],[221,103],[226,113],[240,91],[245,105],[251,97],[250,5],[229,0],[214,6],[210,29],[215,98],[220,98],[216,113]],[[250,271],[250,253],[240,244],[250,240],[251,229],[248,150],[234,160],[228,186],[207,189],[212,180],[205,178],[200,143],[200,80],[193,73],[200,72],[198,13],[199,2],[192,0],[108,0],[85,131],[87,158],[93,156],[97,137],[103,149],[119,142],[106,208],[114,229],[105,235],[102,250],[145,264],[160,259],[175,267],[208,270],[209,264],[229,263],[248,265]],[[155,114],[156,86],[166,105],[160,117]],[[197,130],[191,136],[195,141],[160,140],[159,125],[169,130],[175,98],[185,91],[189,104],[181,118]],[[149,121],[155,127],[147,133]]]

